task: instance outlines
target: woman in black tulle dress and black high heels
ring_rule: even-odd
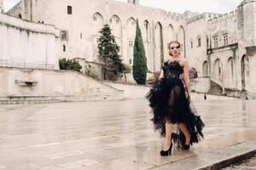
[[[171,155],[172,141],[189,150],[190,145],[203,138],[204,123],[190,108],[189,64],[180,55],[180,46],[177,41],[170,42],[170,58],[146,96],[152,108],[154,128],[166,137],[161,156]],[[172,133],[174,123],[178,126],[177,133]]]

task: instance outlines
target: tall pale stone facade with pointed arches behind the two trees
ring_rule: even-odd
[[[136,19],[143,31],[149,71],[160,71],[168,57],[167,44],[179,39],[184,45],[186,15],[143,7],[136,1],[121,3],[112,0],[47,1],[22,0],[7,14],[23,20],[44,22],[61,30],[60,57],[84,58],[97,62],[98,31],[109,24],[119,43],[125,63],[132,64]]]

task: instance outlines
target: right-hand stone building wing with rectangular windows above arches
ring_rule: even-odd
[[[227,14],[200,14],[186,24],[187,59],[201,77],[226,93],[255,94],[255,1],[244,0]]]

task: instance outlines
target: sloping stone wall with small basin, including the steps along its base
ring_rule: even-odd
[[[0,82],[0,105],[124,99],[124,91],[76,71],[0,67],[1,76],[6,81]]]

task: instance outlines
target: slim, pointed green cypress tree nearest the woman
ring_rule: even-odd
[[[132,74],[137,84],[146,84],[147,79],[147,58],[145,55],[145,48],[143,44],[142,32],[137,20],[136,37],[133,48],[133,66]]]

